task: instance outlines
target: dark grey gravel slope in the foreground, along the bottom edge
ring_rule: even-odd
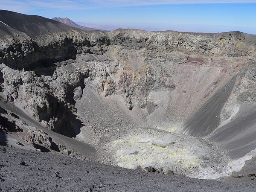
[[[256,190],[255,184],[160,175],[72,159],[60,154],[4,148],[0,146],[1,192]],[[21,162],[26,165],[20,165]]]

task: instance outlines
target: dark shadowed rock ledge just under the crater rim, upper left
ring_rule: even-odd
[[[16,40],[1,50],[0,61],[13,69],[38,70],[54,67],[55,62],[75,59],[76,54],[72,40],[67,37],[42,47],[33,39],[22,43]]]

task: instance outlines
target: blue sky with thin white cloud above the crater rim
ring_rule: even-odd
[[[145,30],[256,34],[256,0],[0,0],[0,9]]]

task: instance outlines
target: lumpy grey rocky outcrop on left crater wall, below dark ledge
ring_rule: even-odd
[[[48,128],[75,137],[73,124],[79,126],[81,122],[79,124],[79,120],[72,113],[76,109],[70,103],[74,101],[74,89],[83,86],[80,81],[82,74],[73,76],[73,83],[70,81],[68,84],[67,81],[71,79],[66,79],[65,82],[60,78],[59,81],[52,82],[49,78],[40,78],[31,71],[13,70],[4,65],[2,67],[2,86],[9,102],[20,105]]]

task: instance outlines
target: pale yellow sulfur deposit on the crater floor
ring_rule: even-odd
[[[177,147],[171,142],[155,138],[127,137],[114,141],[116,151],[116,165],[135,169],[154,166],[163,169],[193,169],[200,164],[200,159],[185,148]],[[121,146],[121,148],[120,148]]]

